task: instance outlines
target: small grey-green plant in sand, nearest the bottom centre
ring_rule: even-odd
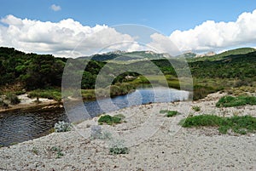
[[[110,154],[128,154],[129,149],[125,147],[123,140],[114,140],[112,145],[109,148]]]

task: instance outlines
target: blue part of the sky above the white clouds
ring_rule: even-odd
[[[52,5],[55,5],[57,9],[53,10]],[[176,40],[176,43],[180,43],[182,38],[177,40],[177,37],[184,37],[183,35],[189,33],[183,32],[182,35],[176,33],[173,36],[173,31],[193,30],[195,26],[201,26],[203,23],[207,22],[207,20],[213,20],[215,24],[222,21],[224,23],[236,23],[238,17],[243,13],[253,15],[254,9],[256,9],[256,3],[253,0],[2,0],[0,6],[0,18],[2,22],[0,22],[0,26],[7,28],[12,25],[13,22],[4,21],[9,15],[13,15],[19,20],[27,19],[41,21],[42,23],[46,21],[59,23],[61,20],[72,19],[73,21],[79,22],[82,26],[89,26],[90,28],[94,28],[96,25],[114,26],[120,24],[138,24],[152,27],[160,31],[160,33],[166,37],[171,37],[172,40]],[[209,25],[211,25],[211,23],[209,23]],[[29,51],[29,49],[19,47],[17,45],[19,43],[6,43],[7,40],[3,38],[3,33],[4,31],[2,30],[0,46],[13,45],[17,46],[15,48]],[[38,34],[40,34],[40,32]],[[200,33],[191,32],[191,34],[195,35]],[[192,40],[195,37],[190,36],[188,38]],[[241,42],[240,39],[241,37],[236,40],[236,43],[223,43],[223,46],[222,43],[218,42],[206,43],[207,46],[201,45],[201,48],[191,48],[186,45],[186,47],[183,47],[183,50],[203,52],[207,50],[223,50],[239,47],[241,43],[237,42]],[[17,42],[19,41],[20,40],[17,40]],[[42,43],[45,43],[45,41]],[[193,43],[193,41],[191,43]],[[245,42],[245,45],[253,46],[254,42],[249,40]],[[53,54],[57,54],[54,52],[55,49],[52,50]],[[39,48],[32,49],[32,51],[41,52]],[[51,50],[49,49],[49,51],[46,52],[51,53]]]

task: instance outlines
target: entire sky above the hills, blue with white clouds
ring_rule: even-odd
[[[0,46],[66,57],[256,47],[256,2],[1,0]]]

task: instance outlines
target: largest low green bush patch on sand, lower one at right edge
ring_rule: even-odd
[[[201,115],[188,117],[181,121],[181,124],[185,128],[202,126],[218,127],[218,131],[222,134],[227,134],[230,129],[237,134],[247,134],[255,132],[256,117],[218,117],[215,115]]]

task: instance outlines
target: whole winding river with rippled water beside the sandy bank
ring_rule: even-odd
[[[86,112],[90,117],[108,111],[115,111],[132,105],[142,105],[154,102],[171,102],[186,100],[189,93],[170,88],[142,88],[131,94],[118,96],[113,99],[84,102]],[[59,121],[70,121],[73,113],[84,112],[83,106],[73,106],[73,110],[66,112],[63,108],[33,109],[30,111],[11,111],[1,113],[0,118],[0,145],[32,140],[49,134],[51,128]],[[75,121],[79,121],[79,117]]]

